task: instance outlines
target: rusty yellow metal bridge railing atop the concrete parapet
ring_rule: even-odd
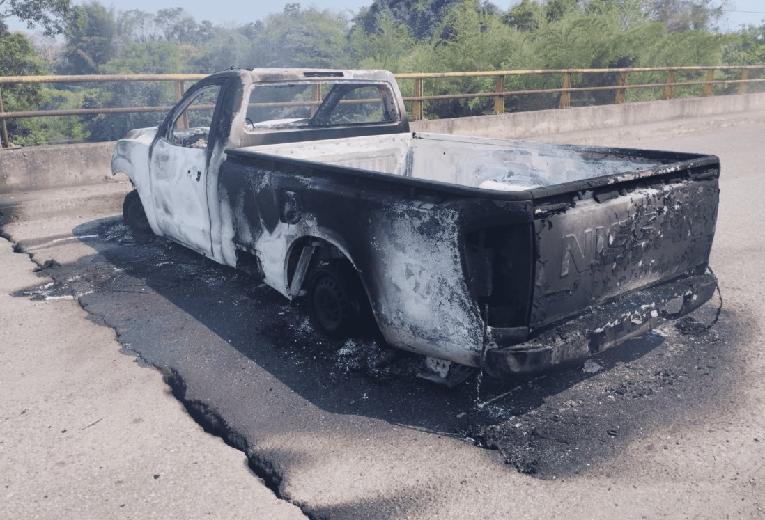
[[[724,94],[744,94],[750,85],[765,82],[757,72],[765,71],[765,65],[718,66],[718,67],[640,67],[620,69],[545,69],[545,70],[490,70],[483,72],[448,73],[399,73],[399,81],[410,119],[443,116],[439,102],[460,102],[488,99],[477,110],[481,113],[501,114],[518,109],[508,106],[508,101],[518,96],[546,96],[541,108],[566,109],[572,106],[572,97],[580,93],[597,94],[598,99],[586,99],[584,105],[604,102],[623,103],[642,99],[673,99],[675,97],[715,96],[715,89],[724,86]],[[11,85],[71,84],[71,83],[122,83],[122,82],[169,82],[174,84],[174,99],[183,96],[189,83],[205,77],[205,74],[125,74],[90,76],[0,76],[0,148],[8,148],[10,139],[6,121],[15,118],[53,117],[63,115],[136,114],[140,112],[167,112],[170,105],[157,106],[102,106],[80,109],[8,110],[3,105],[2,90]],[[760,74],[763,76],[763,74]],[[537,78],[534,80],[524,80]],[[660,78],[657,80],[656,78]],[[470,92],[453,93],[466,88],[454,85],[454,81],[474,80],[467,86]],[[493,81],[492,81],[493,80]],[[451,84],[449,83],[451,82]],[[549,86],[550,84],[555,86]],[[557,86],[557,85],[560,86]],[[518,85],[519,88],[513,88]],[[539,85],[542,88],[539,88]],[[486,88],[488,86],[488,88]],[[507,87],[510,86],[508,89]],[[431,93],[427,93],[428,90]],[[652,91],[648,96],[630,96],[636,91]],[[613,92],[605,97],[603,93]],[[719,93],[719,92],[717,92]],[[550,96],[555,96],[551,99]],[[553,102],[554,101],[554,102]],[[428,110],[429,106],[435,109]],[[537,104],[537,109],[540,105]],[[522,109],[535,109],[526,107]],[[457,108],[457,110],[459,110]],[[475,108],[473,109],[476,110]],[[447,116],[455,116],[454,108]],[[465,115],[457,113],[456,116]]]

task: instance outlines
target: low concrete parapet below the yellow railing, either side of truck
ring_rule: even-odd
[[[765,93],[586,106],[411,122],[414,132],[534,138],[765,109]],[[111,173],[113,142],[0,150],[0,194],[103,182]]]

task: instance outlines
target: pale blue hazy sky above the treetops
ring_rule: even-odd
[[[295,2],[295,0],[293,0]],[[506,10],[519,0],[492,0],[494,5]],[[77,0],[76,3],[82,3]],[[256,21],[265,18],[273,12],[281,12],[285,4],[275,0],[272,2],[242,2],[242,0],[117,0],[108,2],[101,0],[104,5],[112,5],[118,11],[140,9],[141,11],[156,12],[160,9],[182,6],[197,21],[210,20],[213,24],[244,24],[248,21]],[[312,5],[319,9],[334,9],[335,11],[350,11],[356,13],[360,8],[372,5],[372,0],[309,0],[299,2],[304,8]],[[728,5],[727,23],[724,29],[735,30],[741,25],[759,25],[765,19],[765,0],[731,0]],[[8,20],[12,30],[25,30],[20,21]]]

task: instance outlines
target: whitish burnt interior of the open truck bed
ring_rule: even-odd
[[[485,190],[522,191],[678,162],[679,154],[404,133],[243,148]],[[692,157],[684,154],[688,158]]]

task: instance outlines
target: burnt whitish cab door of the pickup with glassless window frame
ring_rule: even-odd
[[[190,92],[151,149],[151,195],[159,229],[207,256],[212,254],[207,174],[220,89],[217,83]]]

